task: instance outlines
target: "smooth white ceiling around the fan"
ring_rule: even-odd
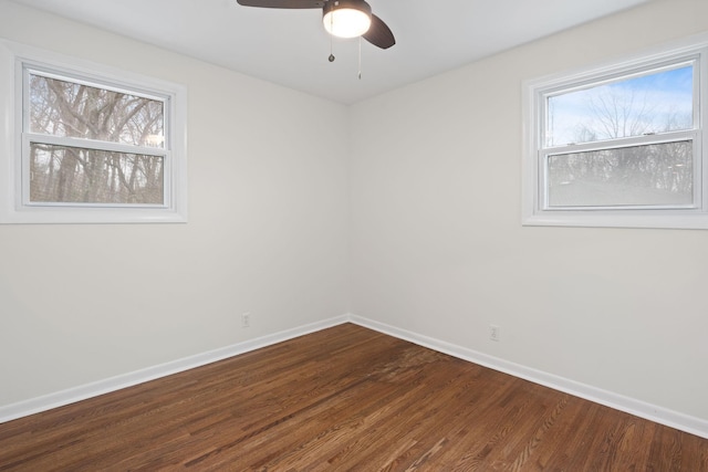
[[[335,102],[398,86],[652,0],[368,0],[396,45],[333,41],[320,10],[236,0],[13,0]]]

